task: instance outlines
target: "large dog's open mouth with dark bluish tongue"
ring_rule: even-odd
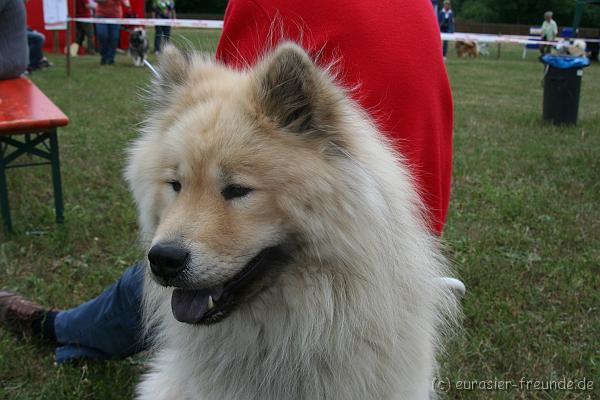
[[[269,247],[258,253],[225,284],[198,290],[175,288],[171,297],[175,319],[187,324],[202,325],[223,320],[247,289],[284,257],[279,246]]]

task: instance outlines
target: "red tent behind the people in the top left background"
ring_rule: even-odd
[[[144,18],[144,0],[130,0],[131,9],[128,10],[131,17]],[[75,0],[67,0],[69,5],[69,15],[75,15]],[[30,0],[26,3],[27,6],[27,26],[42,32],[46,36],[44,50],[51,51],[54,49],[54,32],[58,33],[58,49],[62,53],[65,49],[66,31],[47,31],[44,29],[44,10],[42,0]],[[128,47],[129,35],[127,32],[121,32],[121,40],[119,47],[126,49]],[[71,41],[75,41],[75,23],[71,22]]]

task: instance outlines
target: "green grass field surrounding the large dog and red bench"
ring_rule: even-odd
[[[214,50],[219,32],[186,32]],[[495,51],[495,49],[493,49]],[[452,399],[600,398],[600,66],[584,74],[577,127],[542,123],[542,66],[520,48],[448,60],[456,105],[453,198],[444,239],[465,281],[464,330],[442,357]],[[33,80],[70,117],[60,132],[66,223],[53,223],[50,172],[11,170],[15,234],[0,232],[0,287],[70,307],[138,257],[121,177],[146,69],[125,56],[64,59]],[[0,398],[122,399],[142,359],[54,365],[52,348],[0,329]],[[460,381],[596,380],[588,391],[459,390]]]

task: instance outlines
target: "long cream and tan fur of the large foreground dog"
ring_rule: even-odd
[[[148,272],[155,355],[138,398],[429,398],[456,300],[410,174],[368,115],[291,43],[243,71],[168,47],[159,73],[126,171],[147,248],[181,240],[235,270],[283,241],[290,259],[210,326],[177,322]],[[258,189],[225,203],[218,182],[236,174]]]

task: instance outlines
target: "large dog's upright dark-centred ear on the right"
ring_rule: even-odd
[[[294,133],[318,130],[338,99],[329,76],[300,46],[286,42],[254,69],[260,112]]]

